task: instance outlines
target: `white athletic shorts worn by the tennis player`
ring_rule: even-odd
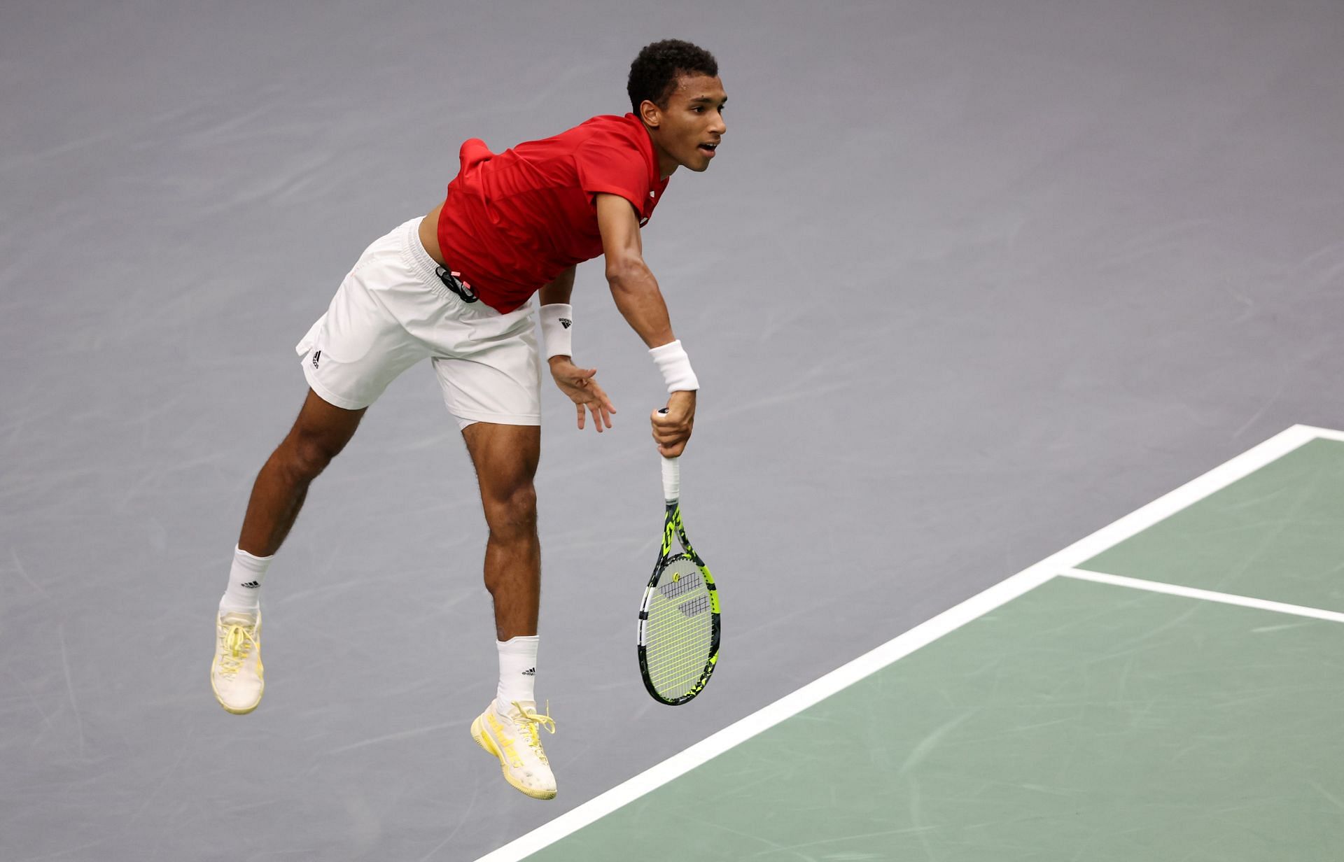
[[[364,250],[294,348],[308,385],[329,404],[360,410],[429,357],[460,427],[542,424],[532,305],[500,314],[450,291],[419,242],[421,220]]]

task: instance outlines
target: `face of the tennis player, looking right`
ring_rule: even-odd
[[[714,158],[727,126],[723,106],[728,101],[723,82],[710,75],[681,75],[668,97],[667,107],[644,102],[641,111],[659,154],[663,176],[679,165],[704,171]]]

